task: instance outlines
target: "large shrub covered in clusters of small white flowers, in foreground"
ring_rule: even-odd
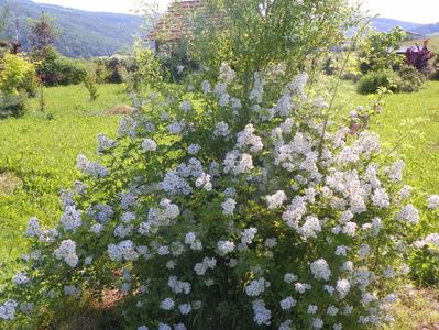
[[[361,329],[389,321],[420,221],[378,138],[325,116],[298,75],[277,100],[234,73],[191,101],[134,103],[101,162],[63,191],[59,223],[31,219],[28,266],[1,294],[0,319],[118,289],[134,329]]]

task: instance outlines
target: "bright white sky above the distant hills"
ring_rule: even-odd
[[[33,0],[34,2],[59,4],[90,10],[130,13],[139,7],[139,0]],[[237,0],[239,1],[239,0]],[[293,0],[292,0],[293,1]],[[363,2],[372,15],[397,19],[415,23],[439,22],[439,0],[352,0]],[[171,0],[157,1],[164,11]]]

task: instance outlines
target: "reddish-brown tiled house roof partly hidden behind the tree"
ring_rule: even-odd
[[[204,0],[174,1],[146,36],[147,41],[179,40],[191,28],[191,14],[204,8]]]

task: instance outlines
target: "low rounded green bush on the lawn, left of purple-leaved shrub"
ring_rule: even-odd
[[[399,76],[391,69],[382,69],[377,72],[370,72],[364,75],[356,87],[361,94],[374,94],[377,92],[381,87],[385,87],[388,90],[396,91],[400,84]]]

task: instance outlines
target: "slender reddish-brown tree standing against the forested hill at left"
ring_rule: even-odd
[[[28,28],[32,55],[37,59],[44,59],[48,48],[53,46],[59,36],[55,19],[42,12],[40,19],[28,20]]]

